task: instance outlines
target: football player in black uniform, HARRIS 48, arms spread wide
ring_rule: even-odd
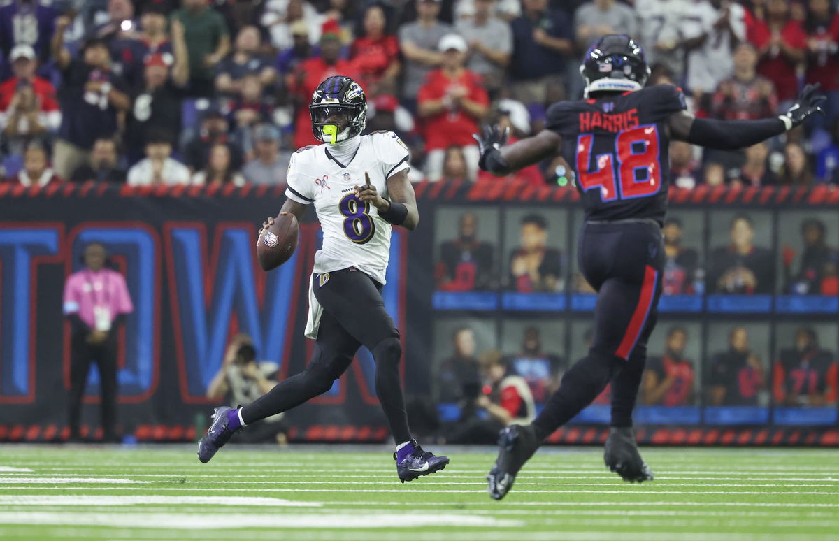
[[[571,367],[545,408],[529,425],[499,434],[498,460],[487,476],[489,492],[503,498],[542,440],[568,422],[612,382],[612,431],[605,459],[627,481],[653,478],[638,455],[632,410],[655,325],[665,254],[661,226],[667,206],[670,139],[708,148],[751,146],[799,126],[821,112],[816,86],[806,86],[789,111],[761,120],[695,118],[670,85],[644,88],[644,51],[627,35],[603,36],[580,68],[586,99],[560,101],[546,127],[503,146],[506,133],[487,127],[476,139],[480,166],[506,175],[561,153],[576,169],[586,210],[578,260],[597,289],[594,341]]]

